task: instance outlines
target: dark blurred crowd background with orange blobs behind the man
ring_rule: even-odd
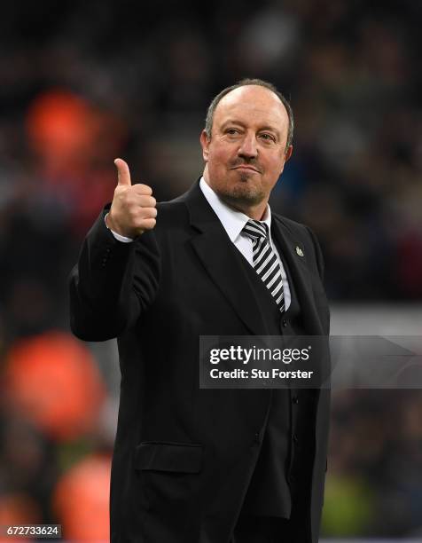
[[[272,209],[309,224],[334,334],[422,324],[422,4],[40,0],[0,18],[0,524],[108,538],[114,342],[69,333],[66,279],[113,159],[183,193],[208,103],[243,77],[291,100]],[[325,537],[422,540],[422,393],[335,391]]]

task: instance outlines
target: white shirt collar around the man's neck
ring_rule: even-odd
[[[240,235],[240,232],[242,232],[250,217],[245,215],[245,213],[228,206],[207,184],[204,177],[200,178],[199,187],[211,208],[214,209],[215,215],[218,216],[220,222],[223,224],[227,235],[231,241],[234,242]],[[269,204],[267,204],[264,218],[260,222],[267,224],[269,232],[271,232],[271,209]]]

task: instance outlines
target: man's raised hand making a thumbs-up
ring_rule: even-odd
[[[114,164],[118,181],[106,223],[113,232],[127,238],[136,238],[155,226],[157,202],[150,186],[132,185],[129,166],[125,161],[116,159]]]

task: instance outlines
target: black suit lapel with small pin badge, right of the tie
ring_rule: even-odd
[[[296,239],[282,219],[274,215],[273,219],[271,231],[293,278],[294,288],[301,305],[305,330],[307,334],[323,334],[323,328],[314,303],[311,271],[309,271],[307,252],[303,248],[303,242]]]

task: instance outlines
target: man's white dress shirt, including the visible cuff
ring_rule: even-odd
[[[242,213],[241,211],[232,209],[230,206],[228,206],[207,184],[207,181],[204,179],[204,177],[200,178],[199,187],[202,193],[204,194],[205,198],[207,199],[207,202],[209,203],[211,208],[214,210],[215,215],[218,216],[221,224],[223,224],[224,230],[227,232],[227,235],[229,236],[231,242],[234,244],[236,248],[238,248],[238,250],[242,253],[242,255],[245,256],[247,262],[251,264],[251,266],[253,266],[254,253],[253,253],[252,240],[251,238],[249,238],[249,236],[246,235],[245,232],[242,232],[245,224],[249,220],[249,217],[245,215],[244,213]],[[105,217],[105,220],[106,220],[106,217]],[[283,280],[283,289],[285,293],[285,311],[287,311],[287,308],[289,307],[291,303],[292,296],[290,294],[289,282],[287,280],[285,268],[278,254],[277,248],[272,240],[271,209],[268,204],[267,204],[267,208],[265,209],[264,218],[260,222],[265,223],[268,226],[268,231],[270,232],[270,245],[277,256],[278,264],[280,264],[281,279]],[[133,241],[132,238],[127,238],[126,236],[122,236],[121,234],[117,232],[113,232],[113,230],[111,229],[109,230],[110,232],[113,233],[114,238],[116,240],[121,241],[122,243],[130,243],[131,241]]]

